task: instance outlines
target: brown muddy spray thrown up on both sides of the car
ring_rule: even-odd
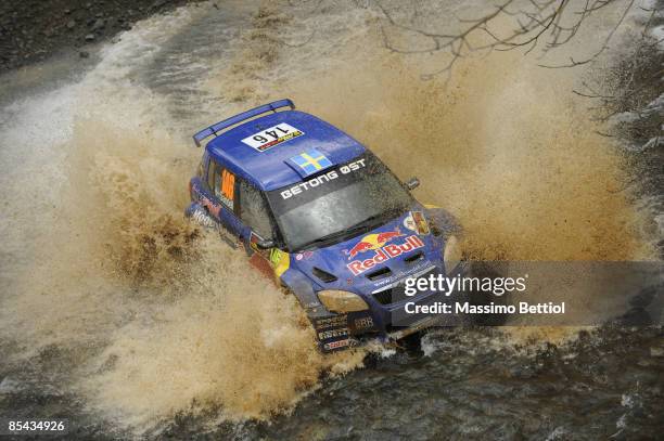
[[[419,176],[420,199],[459,217],[475,257],[652,256],[621,155],[564,93],[572,74],[510,53],[470,59],[447,85],[423,82],[424,62],[413,67],[381,49],[365,10],[295,21],[322,35],[306,51],[279,43],[293,36],[276,38],[291,18],[260,11],[234,59],[202,81],[234,102],[220,116],[292,96],[401,178]],[[72,388],[92,410],[139,428],[210,407],[226,418],[268,418],[323,373],[343,374],[363,358],[323,358],[295,301],[181,216],[200,152],[184,144],[191,128],[168,114],[167,98],[132,78],[202,13],[137,26],[79,85],[16,104],[2,135],[12,182],[3,185],[12,213],[2,231],[11,286],[3,338],[24,343],[17,362],[50,346],[71,349]],[[33,125],[38,144],[21,129]]]

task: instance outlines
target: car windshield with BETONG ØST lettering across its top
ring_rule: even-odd
[[[362,234],[412,205],[410,193],[370,154],[268,192],[268,199],[291,251]]]

